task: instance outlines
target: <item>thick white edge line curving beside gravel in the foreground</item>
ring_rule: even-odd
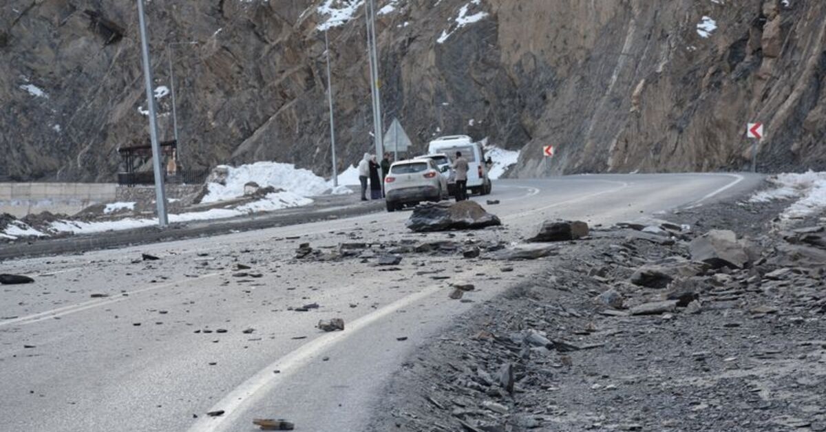
[[[255,375],[241,383],[240,386],[235,387],[232,392],[224,396],[221,401],[218,401],[209,410],[223,410],[225,411],[224,415],[212,418],[202,416],[189,428],[188,432],[220,432],[228,430],[228,428],[234,425],[234,420],[243,411],[244,406],[249,406],[249,404],[259,401],[260,398],[267,394],[267,392],[262,392],[262,390],[276,386],[279,382],[282,382],[293,373],[296,373],[297,370],[306,366],[307,363],[310,363],[314,356],[335,344],[343,342],[350,336],[358,333],[358,330],[362,330],[377,320],[381,320],[403,307],[410,306],[415,301],[430,297],[443,289],[444,286],[441,285],[426,287],[420,292],[402,297],[371,314],[362,316],[352,323],[348,323],[344,331],[321,335],[311,342],[301,345],[282,358],[278,358],[278,360],[270,363],[258,373],[255,373]],[[273,373],[275,369],[278,369],[280,373]]]

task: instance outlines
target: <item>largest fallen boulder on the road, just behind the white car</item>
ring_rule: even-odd
[[[477,230],[494,225],[502,225],[499,217],[470,200],[421,204],[413,209],[406,223],[408,229],[418,232]]]

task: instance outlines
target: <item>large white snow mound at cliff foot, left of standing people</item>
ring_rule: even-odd
[[[334,188],[324,178],[307,169],[297,169],[293,164],[278,162],[256,162],[255,164],[230,167],[222,165],[229,175],[225,184],[209,183],[209,192],[202,202],[219,202],[244,196],[244,184],[258,183],[261,188],[272,186],[301,197],[315,197],[325,193],[346,194],[349,188]],[[339,183],[340,184],[340,183]]]

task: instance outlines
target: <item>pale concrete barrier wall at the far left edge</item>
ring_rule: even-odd
[[[0,183],[0,213],[73,215],[94,204],[115,201],[116,189],[116,183]]]

